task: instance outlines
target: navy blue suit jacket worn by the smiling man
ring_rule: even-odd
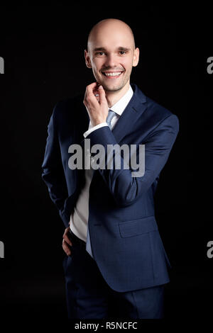
[[[154,193],[160,171],[178,134],[178,118],[131,84],[133,96],[111,131],[87,136],[90,145],[145,145],[145,174],[131,169],[97,169],[89,188],[89,233],[94,260],[109,286],[119,292],[170,281],[170,262],[155,220]],[[82,186],[84,169],[68,166],[72,144],[84,147],[89,116],[83,96],[56,104],[48,125],[43,180],[60,217],[68,226]],[[82,263],[83,264],[83,263]]]

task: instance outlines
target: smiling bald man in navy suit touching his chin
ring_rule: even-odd
[[[126,23],[97,23],[84,55],[96,82],[87,86],[84,101],[75,97],[55,106],[43,161],[43,180],[66,226],[68,315],[162,318],[170,263],[153,196],[178,134],[178,118],[130,84],[139,50]],[[88,139],[91,147],[104,147],[102,163],[109,145],[145,145],[143,175],[133,176],[121,154],[120,169],[107,168],[107,162],[105,168],[87,169],[95,156],[86,149]],[[83,148],[82,169],[70,167],[72,145]],[[113,161],[117,154],[112,156]]]

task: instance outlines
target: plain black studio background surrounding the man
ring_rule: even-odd
[[[133,29],[140,62],[131,81],[178,115],[180,132],[155,197],[170,262],[166,318],[207,319],[212,304],[212,55],[210,9],[185,6],[16,4],[1,8],[0,317],[67,317],[62,271],[64,225],[41,180],[55,103],[84,92],[90,28],[120,18]],[[128,269],[128,267],[126,268]]]

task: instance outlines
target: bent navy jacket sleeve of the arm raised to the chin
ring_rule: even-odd
[[[90,145],[103,145],[105,157],[102,159],[105,163],[103,168],[99,167],[99,172],[109,187],[111,195],[114,197],[117,205],[126,206],[134,203],[148,188],[153,184],[160,174],[163,166],[167,162],[170,150],[173,147],[178,135],[179,121],[176,115],[169,115],[161,121],[154,130],[146,137],[145,142],[139,142],[145,145],[145,172],[143,176],[132,176],[132,169],[126,169],[126,161],[121,157],[121,168],[107,169],[107,145],[116,145],[116,139],[109,127],[103,127],[90,133],[87,138],[90,139]],[[138,154],[138,152],[137,152]],[[112,160],[117,158],[112,155]],[[115,162],[114,162],[115,163]]]

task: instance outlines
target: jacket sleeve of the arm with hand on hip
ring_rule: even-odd
[[[62,168],[58,133],[55,130],[55,111],[57,107],[58,104],[56,104],[55,108],[53,109],[53,114],[51,115],[50,122],[48,124],[48,138],[42,164],[42,179],[48,186],[50,198],[58,208],[60,217],[67,227],[69,221],[63,214],[65,200],[67,198],[67,185],[65,182],[65,174]]]

